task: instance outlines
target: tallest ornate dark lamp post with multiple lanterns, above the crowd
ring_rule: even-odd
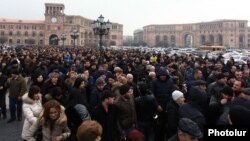
[[[99,35],[99,38],[100,38],[100,41],[99,41],[99,49],[100,49],[99,63],[102,64],[103,63],[103,53],[104,53],[104,49],[102,48],[102,36],[109,34],[111,23],[109,22],[109,20],[107,22],[105,22],[104,17],[102,15],[100,15],[100,17],[98,17],[98,19],[92,23],[92,27],[94,30],[94,34]]]

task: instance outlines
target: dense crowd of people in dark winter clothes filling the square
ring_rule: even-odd
[[[250,124],[250,62],[103,53],[80,47],[1,52],[1,118],[24,117],[25,141],[192,141],[202,140],[204,125]]]

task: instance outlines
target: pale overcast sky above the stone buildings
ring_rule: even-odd
[[[219,19],[250,21],[248,0],[0,0],[0,18],[44,20],[44,3],[63,3],[65,14],[123,24],[124,35],[150,24]]]

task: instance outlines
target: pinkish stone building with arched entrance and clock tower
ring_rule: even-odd
[[[74,44],[71,34],[77,31],[76,46],[96,46],[99,36],[94,35],[93,20],[76,15],[66,15],[64,5],[45,4],[45,20],[18,20],[0,18],[0,39],[6,38],[9,45],[65,45]],[[65,40],[62,37],[65,37]],[[59,39],[59,40],[58,40]],[[103,37],[103,44],[122,45],[123,25],[113,23],[110,33]]]

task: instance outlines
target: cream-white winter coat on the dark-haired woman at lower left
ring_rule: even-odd
[[[41,95],[40,100],[35,101],[28,97],[28,93],[22,96],[23,100],[23,113],[24,113],[24,124],[22,130],[22,139],[30,141],[33,139],[32,131],[30,131],[31,126],[37,123],[37,119],[39,114],[41,113],[43,107],[41,102]]]

